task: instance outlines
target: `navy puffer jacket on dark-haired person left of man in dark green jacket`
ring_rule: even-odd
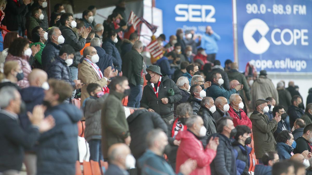
[[[110,38],[105,38],[102,44],[102,48],[105,50],[106,54],[112,56],[115,70],[121,72],[122,60],[115,43]]]

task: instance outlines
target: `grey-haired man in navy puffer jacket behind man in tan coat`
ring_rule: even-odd
[[[64,43],[64,37],[58,27],[52,27],[48,32],[48,41],[41,54],[41,63],[43,70],[46,70],[53,58],[57,57],[60,53],[61,45]]]

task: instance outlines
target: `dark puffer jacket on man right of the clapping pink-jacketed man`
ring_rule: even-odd
[[[217,155],[211,163],[211,174],[236,175],[236,158],[231,140],[220,133],[211,137],[219,137]],[[207,140],[209,139],[210,137]]]

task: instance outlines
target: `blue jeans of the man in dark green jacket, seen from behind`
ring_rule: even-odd
[[[128,96],[128,107],[140,107],[140,100],[142,97],[142,86],[134,84],[129,84],[130,86],[130,95]]]

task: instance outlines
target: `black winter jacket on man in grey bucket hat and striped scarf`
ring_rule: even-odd
[[[169,96],[168,90],[173,89],[174,95]],[[163,104],[162,98],[168,98],[168,103]],[[162,75],[162,80],[160,83],[158,98],[155,95],[154,89],[151,82],[147,82],[147,85],[143,89],[142,99],[140,101],[141,107],[146,109],[152,108],[156,113],[158,113],[162,118],[173,115],[174,103],[180,101],[182,98],[181,92],[177,85],[168,78],[167,75]]]

